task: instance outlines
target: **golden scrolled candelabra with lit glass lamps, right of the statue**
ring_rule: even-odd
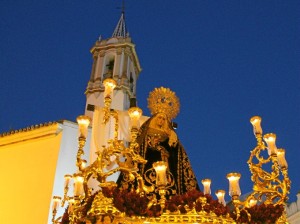
[[[253,132],[257,140],[256,147],[251,151],[247,161],[252,174],[253,191],[245,201],[240,201],[241,190],[239,187],[240,173],[229,173],[229,195],[235,206],[236,216],[239,219],[241,211],[247,214],[248,221],[251,221],[249,208],[258,203],[265,205],[282,205],[288,199],[291,181],[288,177],[288,165],[285,160],[285,150],[277,149],[275,141],[276,135],[265,134],[261,128],[261,117],[254,116],[250,119],[253,125]],[[265,153],[267,151],[267,153]],[[286,217],[280,217],[278,223],[285,223]]]

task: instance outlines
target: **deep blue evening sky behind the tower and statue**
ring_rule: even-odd
[[[84,113],[89,53],[109,38],[121,1],[0,1],[0,133]],[[286,149],[290,198],[300,190],[300,1],[126,2],[126,24],[143,71],[137,88],[169,87],[181,101],[178,136],[198,181],[228,191],[256,144],[249,119]],[[75,141],[75,139],[74,139]],[[74,149],[75,150],[75,149]],[[226,196],[229,200],[229,196]]]

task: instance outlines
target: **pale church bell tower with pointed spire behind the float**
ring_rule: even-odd
[[[93,66],[86,89],[85,114],[92,118],[88,105],[104,106],[104,86],[106,78],[113,78],[117,86],[113,94],[112,109],[127,110],[130,102],[135,103],[136,82],[141,72],[140,63],[125,24],[122,11],[111,38],[101,37],[91,49]]]

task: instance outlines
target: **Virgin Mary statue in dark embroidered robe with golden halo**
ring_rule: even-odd
[[[156,173],[153,163],[164,161],[167,163],[167,195],[183,194],[198,189],[199,186],[192,170],[189,158],[177,134],[172,127],[171,120],[179,112],[179,99],[168,88],[154,89],[148,98],[148,108],[152,117],[139,129],[137,143],[139,154],[147,160],[139,165],[139,174],[146,186],[155,186]],[[121,174],[119,185],[130,187],[125,174]]]

